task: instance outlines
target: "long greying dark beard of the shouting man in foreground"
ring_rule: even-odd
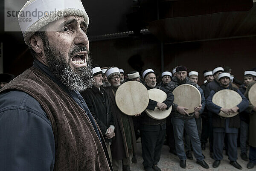
[[[70,49],[69,57],[76,52],[87,51],[86,47],[75,46]],[[92,87],[93,72],[91,69],[92,60],[88,55],[87,67],[79,67],[72,69],[69,60],[65,60],[55,47],[49,45],[48,41],[44,42],[44,52],[47,58],[48,67],[52,70],[53,75],[61,80],[62,84],[67,86],[70,90],[82,91]]]

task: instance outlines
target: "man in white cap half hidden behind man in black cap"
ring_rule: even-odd
[[[190,81],[193,81],[196,84],[196,87],[198,88],[199,92],[201,93],[201,104],[202,109],[195,112],[195,122],[198,129],[198,136],[201,137],[201,114],[204,112],[204,108],[206,106],[206,100],[204,97],[204,91],[201,89],[201,87],[198,85],[198,72],[197,71],[190,71],[189,72],[189,79]],[[185,150],[186,150],[186,157],[188,159],[193,159],[192,152],[191,152],[191,140],[189,135],[185,131]]]

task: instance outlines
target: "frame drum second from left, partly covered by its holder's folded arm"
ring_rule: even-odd
[[[167,94],[157,88],[152,88],[148,90],[149,99],[162,103],[166,100]],[[145,112],[148,114],[149,117],[157,120],[167,118],[172,111],[172,106],[169,107],[167,110],[159,110],[157,107],[154,110],[146,109]]]

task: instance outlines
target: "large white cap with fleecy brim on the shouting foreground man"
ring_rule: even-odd
[[[34,12],[34,14],[33,14]],[[48,23],[67,16],[80,16],[88,26],[89,17],[85,12],[81,0],[29,0],[20,10],[18,18],[20,29],[25,43],[30,46],[29,40],[35,32]],[[31,22],[22,22],[31,19]]]

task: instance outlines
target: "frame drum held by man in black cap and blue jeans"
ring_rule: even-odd
[[[191,84],[179,85],[172,91],[172,94],[174,95],[173,103],[188,108],[187,113],[194,113],[194,108],[199,107],[202,102],[200,91]]]

